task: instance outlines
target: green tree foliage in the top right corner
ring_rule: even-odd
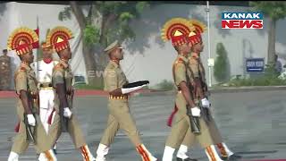
[[[280,1],[253,1],[250,2],[250,6],[253,6],[258,12],[262,12],[265,16],[277,21],[286,17],[286,2]]]

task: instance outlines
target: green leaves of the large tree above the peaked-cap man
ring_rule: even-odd
[[[105,17],[103,21],[108,25],[105,27],[105,33],[102,34],[105,35],[107,44],[109,44],[114,39],[120,41],[134,39],[136,34],[130,28],[130,21],[139,18],[140,13],[149,8],[150,5],[148,2],[94,1],[93,6],[91,20],[97,18],[98,13]],[[59,20],[64,21],[67,19],[71,19],[71,7],[65,7],[63,12],[59,13]],[[98,43],[101,33],[99,29],[102,29],[102,27],[87,25],[86,28],[84,30],[84,41],[88,45]]]

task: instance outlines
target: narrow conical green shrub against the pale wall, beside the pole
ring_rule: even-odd
[[[216,54],[217,56],[214,62],[214,78],[215,80],[222,82],[228,80],[230,77],[229,61],[223,43],[218,43],[216,45]]]

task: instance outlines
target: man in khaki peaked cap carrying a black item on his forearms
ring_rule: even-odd
[[[105,53],[110,58],[104,72],[105,91],[109,92],[109,116],[104,135],[97,148],[97,161],[105,161],[105,155],[107,155],[109,147],[114,141],[114,136],[120,128],[126,132],[143,161],[156,161],[156,157],[152,156],[140,140],[139,131],[130,114],[128,104],[128,94],[146,86],[148,81],[128,83],[120,66],[123,53],[118,41],[106,47]]]

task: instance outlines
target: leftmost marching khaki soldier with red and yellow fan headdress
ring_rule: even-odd
[[[19,96],[17,114],[21,123],[8,161],[18,161],[19,154],[26,151],[29,141],[34,141],[37,152],[42,153],[39,161],[56,160],[53,150],[48,146],[48,137],[38,116],[38,104],[35,101],[38,96],[37,79],[29,66],[34,59],[31,44],[37,41],[37,33],[29,28],[14,30],[8,39],[8,49],[16,50],[21,59],[20,67],[14,75],[15,89]]]

